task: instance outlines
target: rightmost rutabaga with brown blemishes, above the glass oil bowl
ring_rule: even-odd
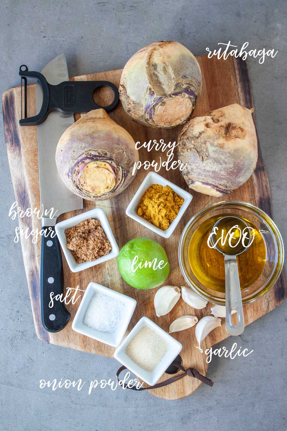
[[[220,197],[248,180],[258,155],[252,112],[234,103],[186,123],[177,150],[190,188]]]

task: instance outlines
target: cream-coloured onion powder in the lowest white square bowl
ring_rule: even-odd
[[[151,328],[143,326],[126,348],[126,354],[145,371],[153,371],[163,359],[169,344]]]

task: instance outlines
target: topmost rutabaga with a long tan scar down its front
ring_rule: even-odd
[[[133,120],[154,128],[175,127],[191,117],[201,93],[201,69],[182,44],[154,42],[124,66],[119,92]]]

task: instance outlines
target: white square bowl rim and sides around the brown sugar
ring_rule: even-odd
[[[76,226],[78,223],[83,222],[86,219],[99,219],[102,228],[111,243],[111,251],[105,256],[99,257],[99,259],[93,260],[92,262],[77,263],[76,259],[72,255],[71,250],[67,248],[67,238],[65,235],[65,230]],[[91,266],[98,265],[99,263],[106,262],[109,259],[113,259],[119,254],[119,247],[117,246],[116,240],[114,239],[113,232],[109,225],[107,216],[102,208],[94,208],[90,211],[82,212],[81,214],[71,217],[71,219],[63,220],[55,226],[57,237],[59,238],[59,243],[61,244],[62,250],[65,254],[65,258],[68,262],[69,268],[72,272],[83,271],[83,269],[90,268]]]

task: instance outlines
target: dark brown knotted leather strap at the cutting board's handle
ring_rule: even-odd
[[[186,375],[189,377],[194,377],[194,378],[198,378],[198,380],[202,381],[205,384],[208,384],[208,386],[213,386],[213,381],[210,380],[209,378],[203,376],[202,374],[200,374],[198,372],[198,370],[196,370],[195,368],[187,368],[185,369],[181,364],[179,364],[179,362],[173,362],[173,365],[175,365],[177,368],[181,369],[183,371],[183,374],[180,374],[178,376],[174,376],[171,378],[168,378],[165,381],[161,381],[160,383],[156,383],[153,386],[147,386],[147,387],[140,387],[139,389],[136,386],[128,386],[127,384],[124,384],[122,380],[119,380],[119,375],[123,370],[126,370],[127,367],[125,367],[124,365],[122,367],[120,367],[117,370],[117,382],[120,386],[123,387],[123,389],[132,389],[132,390],[146,390],[146,389],[156,389],[157,387],[163,387],[163,386],[167,386],[168,384],[174,383],[177,380],[180,380],[181,378],[185,377]]]

